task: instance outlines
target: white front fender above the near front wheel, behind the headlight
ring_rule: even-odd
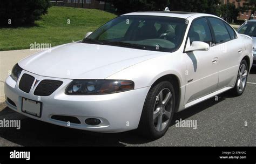
[[[143,61],[106,79],[132,80],[135,84],[134,88],[138,89],[152,86],[159,78],[167,74],[173,74],[178,77],[179,85],[182,87],[185,85],[186,65],[183,62],[182,54],[178,52],[166,53],[164,56]]]

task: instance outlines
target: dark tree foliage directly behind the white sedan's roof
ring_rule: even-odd
[[[220,0],[112,0],[112,2],[118,13],[164,10],[166,6],[169,6],[171,11],[210,13],[226,16],[228,21],[236,20],[239,13],[233,4],[221,5]]]

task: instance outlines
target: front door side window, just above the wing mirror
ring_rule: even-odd
[[[188,37],[190,38],[190,44],[194,41],[208,44],[212,42],[211,31],[205,18],[197,19],[192,23]]]

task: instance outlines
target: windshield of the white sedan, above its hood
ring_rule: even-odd
[[[174,52],[183,41],[185,19],[161,16],[120,16],[103,25],[83,43]]]

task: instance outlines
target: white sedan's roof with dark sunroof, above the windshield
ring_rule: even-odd
[[[183,11],[144,11],[144,12],[131,12],[126,13],[124,16],[128,15],[147,15],[147,16],[165,16],[165,17],[177,17],[187,19],[191,16],[213,16],[206,13],[197,12],[183,12]]]

